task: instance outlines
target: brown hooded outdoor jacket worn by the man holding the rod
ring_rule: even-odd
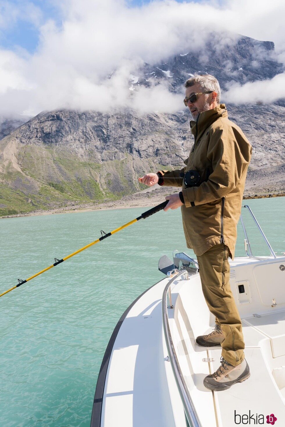
[[[187,247],[202,255],[225,243],[235,255],[237,223],[252,148],[241,129],[228,119],[226,106],[204,111],[191,121],[194,146],[180,170],[161,171],[164,185],[182,187],[182,221]],[[181,173],[197,170],[198,186],[185,188]]]

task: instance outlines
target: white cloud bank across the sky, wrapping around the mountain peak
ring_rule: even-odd
[[[160,63],[188,52],[189,47],[200,53],[209,32],[231,31],[274,41],[279,57],[285,57],[285,3],[279,0],[153,1],[141,7],[130,7],[122,0],[61,0],[56,3],[62,16],[60,26],[58,20],[43,23],[32,2],[24,4],[30,5],[29,16],[39,30],[39,43],[33,54],[0,50],[2,114],[34,115],[56,108],[177,111],[181,100],[178,102],[178,94],[170,93],[166,84],[159,87],[150,82],[149,88],[140,86],[130,91],[130,75],[144,62]],[[9,14],[19,19],[22,10],[21,3],[15,3],[14,8],[7,6],[5,19],[0,22]],[[216,50],[226,41],[220,37]],[[280,79],[243,87],[233,84],[223,95],[241,102],[242,91],[244,102],[250,99],[245,87],[255,96],[258,84],[264,83],[264,97],[270,96],[273,101],[276,98],[272,94],[279,94],[269,88]]]

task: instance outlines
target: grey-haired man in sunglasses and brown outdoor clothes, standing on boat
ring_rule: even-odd
[[[180,193],[165,197],[169,202],[164,210],[181,206],[187,247],[197,256],[203,294],[215,316],[213,332],[196,339],[205,347],[222,347],[221,366],[204,379],[204,385],[225,390],[250,377],[241,318],[229,285],[228,257],[233,259],[235,254],[252,149],[220,104],[220,85],[214,76],[195,74],[185,89],[184,103],[195,120],[190,122],[194,146],[184,161],[186,166],[148,173],[138,180],[149,186],[182,187]]]

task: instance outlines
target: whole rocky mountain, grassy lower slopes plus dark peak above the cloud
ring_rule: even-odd
[[[189,49],[190,51],[190,49]],[[181,91],[194,72],[213,73],[222,88],[231,81],[265,79],[282,71],[274,45],[250,38],[213,37],[203,55],[179,53],[164,64],[145,64],[130,89],[150,79]],[[227,105],[229,117],[253,145],[247,192],[285,187],[284,106]],[[193,144],[185,109],[176,114],[120,111],[49,111],[0,140],[0,215],[47,209],[68,202],[103,202],[145,188],[138,176],[179,167]],[[5,134],[5,131],[4,131]]]

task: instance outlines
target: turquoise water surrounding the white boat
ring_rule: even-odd
[[[285,252],[285,198],[246,203],[274,251]],[[2,219],[0,293],[147,209]],[[244,218],[254,254],[269,254],[249,215]],[[236,256],[244,254],[243,238]],[[179,209],[141,219],[0,298],[1,427],[89,426],[113,328],[163,277],[159,257],[171,258],[173,249],[193,255]]]

